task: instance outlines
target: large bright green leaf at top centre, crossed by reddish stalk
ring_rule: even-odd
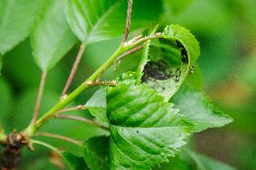
[[[78,39],[88,44],[123,35],[126,10],[121,0],[68,0],[66,14]],[[156,22],[161,12],[160,1],[134,1],[131,31]]]

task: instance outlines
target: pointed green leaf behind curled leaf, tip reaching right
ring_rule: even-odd
[[[218,111],[201,92],[182,89],[174,96],[172,102],[186,120],[195,125],[195,132],[223,127],[233,121],[232,118]]]

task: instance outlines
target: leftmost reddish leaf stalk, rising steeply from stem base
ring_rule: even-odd
[[[35,103],[35,107],[34,107],[34,112],[33,112],[33,117],[32,117],[32,124],[34,124],[35,121],[37,121],[37,118],[38,118],[38,115],[39,115],[39,109],[40,109],[40,104],[41,104],[41,96],[43,94],[43,88],[44,88],[44,85],[45,85],[46,76],[47,76],[46,72],[41,73],[41,82],[40,82],[40,86],[39,86],[39,90],[38,90],[38,94],[37,94],[37,99],[36,99],[36,103]]]

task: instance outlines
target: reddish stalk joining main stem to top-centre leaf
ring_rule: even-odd
[[[80,46],[80,49],[78,51],[78,56],[77,56],[77,58],[75,60],[75,63],[73,65],[72,69],[71,69],[71,72],[70,72],[69,78],[67,80],[67,83],[66,83],[66,85],[64,87],[64,90],[63,90],[63,92],[61,94],[61,98],[63,98],[68,93],[68,91],[69,91],[69,87],[72,84],[72,81],[73,81],[74,76],[76,74],[76,71],[78,69],[78,65],[80,63],[80,60],[83,57],[83,54],[85,52],[85,49],[86,49],[86,44],[82,43],[81,46]]]

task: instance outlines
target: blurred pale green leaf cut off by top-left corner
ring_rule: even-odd
[[[28,36],[40,9],[41,0],[1,0],[0,54]]]

